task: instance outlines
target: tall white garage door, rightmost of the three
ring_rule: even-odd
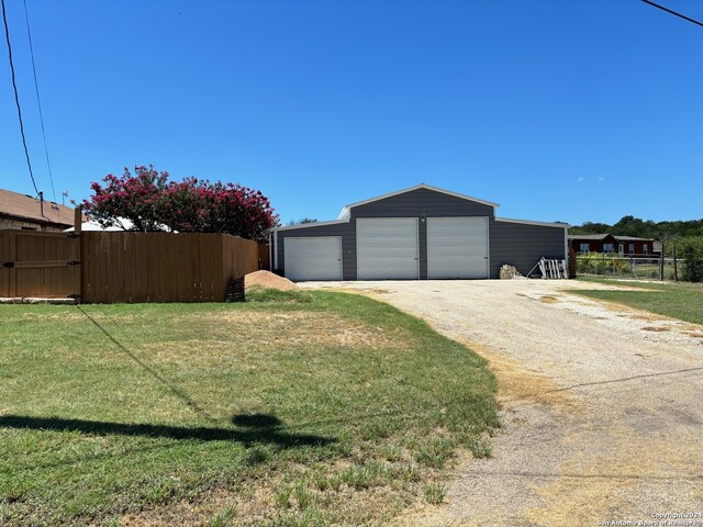
[[[488,278],[488,217],[428,217],[427,278]]]

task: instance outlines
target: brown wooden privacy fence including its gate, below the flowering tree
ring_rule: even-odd
[[[227,234],[0,231],[0,295],[222,302],[258,255],[256,242]]]

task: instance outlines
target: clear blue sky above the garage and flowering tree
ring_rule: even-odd
[[[283,222],[420,182],[511,217],[703,216],[703,29],[639,0],[26,2],[59,200],[150,162],[258,188]],[[3,40],[0,187],[33,193],[11,90]]]

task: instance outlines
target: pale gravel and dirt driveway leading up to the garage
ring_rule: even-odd
[[[576,281],[303,287],[387,301],[496,372],[493,457],[458,467],[447,503],[401,524],[638,525],[703,513],[703,326],[587,300],[567,290],[607,285]],[[690,520],[680,525],[703,526],[703,516]]]

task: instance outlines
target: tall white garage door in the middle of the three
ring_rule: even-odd
[[[360,217],[356,221],[358,280],[417,280],[416,217]]]

